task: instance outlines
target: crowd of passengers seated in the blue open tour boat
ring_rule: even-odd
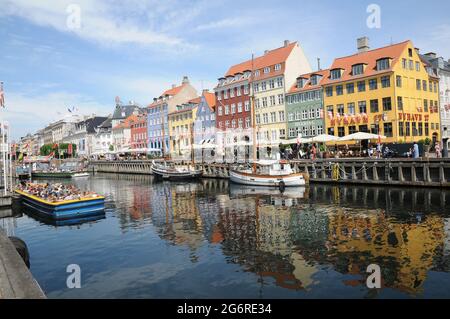
[[[52,203],[98,197],[94,192],[83,192],[73,185],[64,185],[60,183],[21,183],[18,189]]]

